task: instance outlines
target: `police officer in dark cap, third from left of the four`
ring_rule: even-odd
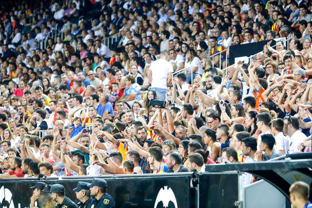
[[[87,186],[89,183],[79,181],[77,188],[74,188],[73,191],[76,192],[77,199],[80,202],[77,204],[78,208],[90,208],[92,205],[93,199],[90,197],[90,188]]]

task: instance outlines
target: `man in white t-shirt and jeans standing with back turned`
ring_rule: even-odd
[[[149,80],[152,82],[151,89],[156,91],[156,96],[160,100],[166,98],[167,86],[172,80],[173,68],[168,58],[168,51],[160,52],[160,59],[153,61],[149,67]]]

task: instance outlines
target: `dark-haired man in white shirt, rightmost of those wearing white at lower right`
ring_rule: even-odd
[[[289,139],[288,154],[300,152],[298,144],[303,142],[306,138],[305,134],[299,129],[299,120],[295,116],[286,116],[284,118],[284,133],[287,134]]]

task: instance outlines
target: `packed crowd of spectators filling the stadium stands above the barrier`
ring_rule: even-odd
[[[52,0],[1,10],[0,178],[204,172],[311,152],[311,5]],[[250,64],[226,68],[227,48],[282,37],[290,50],[269,41]]]

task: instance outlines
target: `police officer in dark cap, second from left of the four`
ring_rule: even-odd
[[[70,198],[65,196],[64,186],[54,184],[51,186],[50,193],[56,202],[56,208],[77,208],[77,205],[71,201]]]

